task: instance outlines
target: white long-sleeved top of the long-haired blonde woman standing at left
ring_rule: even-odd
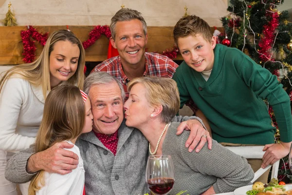
[[[43,116],[41,86],[23,78],[9,78],[0,92],[0,149],[18,152],[35,142]]]

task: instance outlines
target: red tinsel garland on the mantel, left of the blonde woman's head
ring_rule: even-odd
[[[35,41],[31,40],[30,37],[37,40],[41,45],[44,46],[48,39],[48,33],[45,33],[43,35],[41,33],[38,33],[34,27],[29,26],[27,30],[21,31],[20,36],[23,44],[22,55],[24,56],[24,58],[22,60],[26,63],[31,63],[36,58],[35,52],[37,50],[37,47],[35,45]]]

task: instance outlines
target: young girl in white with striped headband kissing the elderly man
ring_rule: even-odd
[[[36,152],[44,151],[56,142],[75,144],[78,136],[92,130],[92,119],[90,100],[83,91],[69,85],[55,87],[45,102]],[[40,171],[30,183],[29,195],[82,195],[85,171],[79,148],[74,145],[66,150],[78,155],[78,167],[66,175]]]

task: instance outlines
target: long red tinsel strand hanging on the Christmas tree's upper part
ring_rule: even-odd
[[[272,18],[272,20],[263,26],[263,39],[261,39],[258,43],[259,49],[259,59],[262,61],[274,60],[271,56],[271,49],[274,43],[274,32],[276,28],[279,26],[279,14],[277,12],[267,12],[266,18]]]

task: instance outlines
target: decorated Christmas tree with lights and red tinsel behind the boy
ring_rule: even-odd
[[[288,21],[288,11],[277,10],[283,2],[230,0],[231,5],[227,8],[230,13],[221,18],[225,32],[219,35],[218,42],[236,47],[276,75],[292,100],[292,23]],[[269,113],[277,126],[271,106]],[[278,128],[275,137],[279,141]],[[287,158],[286,162],[280,163],[279,180],[291,175],[285,168]]]

